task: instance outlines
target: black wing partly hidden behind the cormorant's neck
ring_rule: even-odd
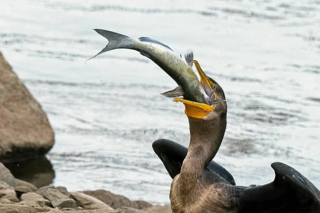
[[[167,139],[159,139],[153,142],[152,148],[161,159],[164,167],[167,169],[170,177],[173,179],[177,174],[180,174],[181,166],[184,158],[187,156],[188,148],[174,141]],[[207,169],[215,171],[230,184],[236,185],[232,175],[220,164],[211,161]]]

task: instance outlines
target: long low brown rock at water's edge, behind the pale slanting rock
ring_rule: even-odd
[[[103,189],[99,189],[96,191],[84,191],[83,193],[99,199],[100,201],[111,206],[113,209],[117,209],[124,206],[131,207],[134,209],[143,209],[152,206],[148,202],[131,201],[122,195],[113,194]]]

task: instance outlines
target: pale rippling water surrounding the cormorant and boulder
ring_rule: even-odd
[[[1,4],[0,49],[55,130],[54,185],[168,203],[171,178],[151,143],[188,146],[184,106],[159,95],[176,84],[157,65],[124,49],[85,64],[107,43],[92,30],[102,28],[194,52],[226,93],[215,160],[237,185],[272,181],[280,161],[320,188],[320,1]]]

